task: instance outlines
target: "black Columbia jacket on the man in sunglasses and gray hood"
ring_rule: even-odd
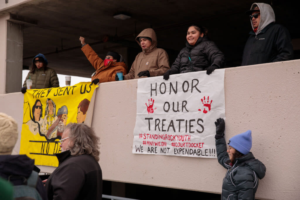
[[[294,58],[289,31],[282,25],[271,23],[257,35],[253,30],[249,34],[241,66],[287,61]]]

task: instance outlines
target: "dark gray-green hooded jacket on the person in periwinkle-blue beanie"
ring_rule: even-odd
[[[265,166],[255,159],[250,152],[235,159],[234,165],[229,165],[230,160],[225,138],[216,139],[217,157],[219,163],[227,169],[222,185],[222,200],[252,200],[258,187],[258,179],[265,176]]]

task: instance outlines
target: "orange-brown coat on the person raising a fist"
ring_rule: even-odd
[[[115,81],[117,71],[122,71],[123,75],[127,74],[128,67],[124,62],[110,62],[104,66],[104,60],[99,58],[91,46],[86,44],[81,50],[96,69],[94,76],[92,76],[92,81],[94,79],[99,79],[99,83]]]

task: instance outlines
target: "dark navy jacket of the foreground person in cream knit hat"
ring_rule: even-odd
[[[30,159],[26,155],[0,155],[0,176],[7,180],[10,175],[23,176],[29,178],[34,168],[35,160]],[[13,185],[23,185],[22,178],[11,180]],[[47,199],[46,190],[39,178],[36,189],[43,200]],[[1,196],[0,196],[1,199]]]

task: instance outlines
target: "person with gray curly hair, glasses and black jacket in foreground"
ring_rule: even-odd
[[[99,137],[94,130],[70,123],[59,142],[58,167],[46,181],[48,199],[101,199]]]

